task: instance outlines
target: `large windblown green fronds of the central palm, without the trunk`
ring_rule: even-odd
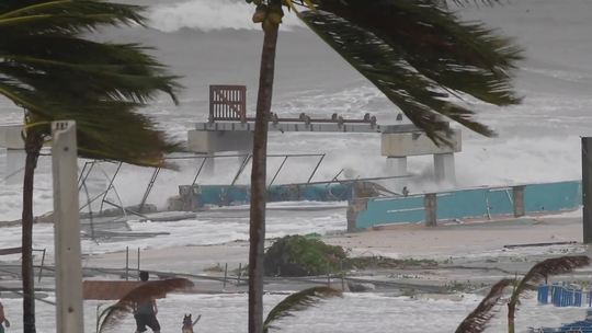
[[[493,136],[471,119],[474,111],[444,97],[451,92],[496,105],[521,103],[511,73],[522,49],[482,24],[415,2],[323,0],[319,13],[299,16],[436,143],[448,141],[445,117]]]

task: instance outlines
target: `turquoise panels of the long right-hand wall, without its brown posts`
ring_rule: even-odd
[[[524,213],[559,213],[582,205],[581,182],[527,184]],[[481,187],[436,193],[437,220],[513,216],[513,186]],[[425,220],[423,195],[371,198],[355,218],[356,229]]]

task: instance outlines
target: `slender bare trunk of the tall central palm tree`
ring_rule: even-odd
[[[263,332],[263,259],[265,251],[265,203],[267,173],[267,126],[275,72],[278,25],[265,32],[259,74],[259,94],[253,135],[251,170],[251,221],[249,248],[249,333]]]

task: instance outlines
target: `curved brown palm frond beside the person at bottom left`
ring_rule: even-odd
[[[134,312],[136,303],[191,287],[193,287],[193,283],[186,278],[168,278],[139,285],[98,315],[98,322],[101,322],[101,324],[98,323],[96,333],[113,329],[128,313]]]

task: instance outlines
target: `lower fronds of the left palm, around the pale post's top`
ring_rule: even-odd
[[[135,110],[141,104],[95,101],[89,105],[83,99],[61,96],[64,93],[34,94],[35,99],[43,103],[43,108],[27,111],[27,116],[30,123],[41,123],[31,129],[38,137],[50,135],[48,123],[53,120],[76,119],[78,152],[82,158],[121,161],[139,166],[178,169],[174,163],[164,163],[163,159],[166,154],[185,151],[185,143],[159,129],[151,117],[137,113]],[[68,105],[52,103],[65,99],[69,99]]]

